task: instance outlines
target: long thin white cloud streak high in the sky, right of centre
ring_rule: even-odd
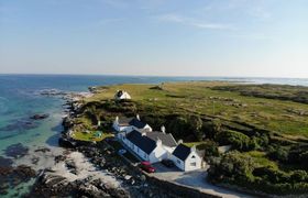
[[[195,19],[195,18],[186,18],[175,13],[162,14],[156,16],[160,21],[178,23],[183,25],[189,25],[198,29],[208,29],[208,30],[231,30],[233,29],[230,24],[223,23],[211,23],[204,22],[204,20]]]

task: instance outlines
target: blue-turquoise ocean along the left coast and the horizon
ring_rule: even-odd
[[[41,90],[87,91],[88,87],[113,84],[158,84],[184,80],[227,80],[251,84],[285,84],[308,86],[308,79],[294,78],[228,78],[228,77],[139,77],[139,76],[76,76],[76,75],[0,75],[0,156],[8,146],[21,143],[30,151],[37,147],[57,150],[62,131],[64,100],[40,95]],[[45,120],[31,121],[35,113],[48,113]],[[14,160],[21,164],[22,160]],[[47,158],[46,158],[47,161]],[[25,161],[24,161],[25,162]],[[1,163],[1,161],[0,161]],[[1,164],[0,164],[1,165]],[[41,166],[43,166],[41,164]],[[7,197],[26,193],[33,183],[12,189]],[[0,195],[1,197],[1,195]]]

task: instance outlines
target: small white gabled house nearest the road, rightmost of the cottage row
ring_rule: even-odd
[[[184,172],[195,170],[202,167],[202,156],[197,153],[195,146],[188,147],[184,144],[177,145],[170,160]]]

